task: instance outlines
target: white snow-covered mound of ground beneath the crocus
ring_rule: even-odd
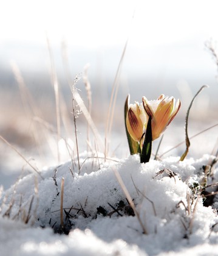
[[[29,174],[1,190],[1,255],[218,255],[218,203],[205,207],[197,196],[203,166],[213,159],[168,157],[141,164],[138,155],[105,162],[84,152],[80,174],[71,161],[43,169],[43,179]],[[208,184],[217,182],[217,168],[210,179]],[[69,235],[60,235],[64,230]]]

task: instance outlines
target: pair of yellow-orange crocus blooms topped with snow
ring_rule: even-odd
[[[142,149],[145,139],[146,128],[149,117],[151,118],[152,140],[156,140],[165,131],[166,127],[179,112],[181,102],[178,99],[175,104],[174,97],[168,98],[161,94],[157,100],[148,101],[145,96],[142,98],[142,104],[128,105],[126,114],[126,128],[134,141],[140,144]]]

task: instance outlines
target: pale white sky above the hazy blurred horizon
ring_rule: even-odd
[[[215,46],[218,41],[217,0],[0,2],[1,65],[14,60],[21,71],[47,71],[47,35],[58,68],[64,40],[72,74],[81,73],[90,63],[93,83],[104,80],[102,84],[107,87],[112,84],[129,38],[122,72],[133,93],[135,79],[138,86],[150,79],[157,94],[163,87],[175,90],[181,80],[196,90],[213,79],[212,87],[217,91],[217,66],[205,50],[206,41],[212,39]]]

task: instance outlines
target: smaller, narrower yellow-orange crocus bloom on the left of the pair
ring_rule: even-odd
[[[129,104],[129,110],[126,115],[126,127],[134,141],[140,142],[141,137],[146,129],[148,114],[142,104],[135,102]]]

